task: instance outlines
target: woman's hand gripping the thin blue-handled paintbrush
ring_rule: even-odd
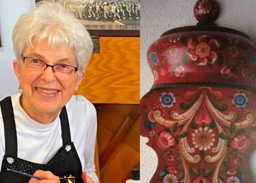
[[[36,178],[31,178],[28,183],[60,183],[60,178],[58,176],[54,176],[52,172],[37,170],[33,176],[38,176],[40,178],[44,178],[45,180],[37,180]]]

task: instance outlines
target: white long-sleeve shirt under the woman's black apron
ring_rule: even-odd
[[[13,95],[11,102],[17,131],[17,157],[37,164],[47,162],[62,147],[60,118],[43,125],[31,119],[19,104],[20,94]],[[94,151],[97,132],[97,116],[93,105],[83,96],[75,96],[66,104],[71,141],[79,155],[83,172],[94,182],[99,182],[95,174]],[[0,110],[0,162],[5,155],[5,133]],[[1,166],[0,166],[1,171]]]

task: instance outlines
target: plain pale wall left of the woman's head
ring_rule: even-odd
[[[35,5],[35,0],[0,0],[0,100],[18,92],[17,78],[13,72],[15,59],[11,33],[17,19]]]

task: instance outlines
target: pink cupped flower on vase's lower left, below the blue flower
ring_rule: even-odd
[[[173,135],[170,135],[170,133],[168,133],[167,131],[163,131],[160,133],[157,144],[163,149],[166,149],[168,147],[176,147],[176,141],[174,140]]]

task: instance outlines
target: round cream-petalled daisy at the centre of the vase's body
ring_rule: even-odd
[[[195,133],[192,133],[192,140],[193,144],[195,145],[195,148],[204,149],[204,151],[207,151],[207,149],[210,149],[212,145],[214,145],[214,136],[215,134],[212,133],[212,129],[208,130],[208,127],[205,127],[204,130],[202,127],[195,130]]]

